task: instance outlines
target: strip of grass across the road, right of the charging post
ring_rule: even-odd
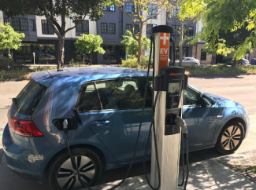
[[[217,64],[207,67],[184,67],[187,75],[225,75],[225,74],[254,74],[256,65],[228,67],[226,64]]]

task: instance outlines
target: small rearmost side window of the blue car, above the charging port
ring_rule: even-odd
[[[82,86],[76,109],[80,112],[101,110],[98,93],[93,82]]]

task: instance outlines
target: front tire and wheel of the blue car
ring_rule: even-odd
[[[223,155],[232,154],[242,144],[243,137],[243,125],[240,122],[228,122],[221,130],[215,148]]]

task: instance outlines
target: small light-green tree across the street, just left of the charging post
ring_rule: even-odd
[[[121,42],[124,44],[124,47],[129,55],[134,55],[135,57],[138,57],[138,49],[139,49],[139,43],[135,38],[132,36],[132,31],[126,31],[125,35],[123,35],[124,40]],[[150,39],[146,36],[142,36],[141,38],[141,49],[143,48],[150,49]]]

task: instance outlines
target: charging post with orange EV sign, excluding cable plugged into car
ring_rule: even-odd
[[[181,130],[187,133],[186,124],[182,119],[184,90],[187,88],[187,76],[184,68],[169,66],[169,36],[173,28],[169,26],[153,27],[154,34],[154,126],[158,144],[152,141],[151,176],[154,188],[161,183],[161,190],[177,189],[180,166]],[[158,96],[157,96],[157,93]],[[154,137],[152,137],[154,138]],[[158,147],[158,155],[154,151]],[[184,147],[182,147],[184,148]],[[159,164],[156,163],[158,156]],[[158,168],[160,178],[158,181]]]

